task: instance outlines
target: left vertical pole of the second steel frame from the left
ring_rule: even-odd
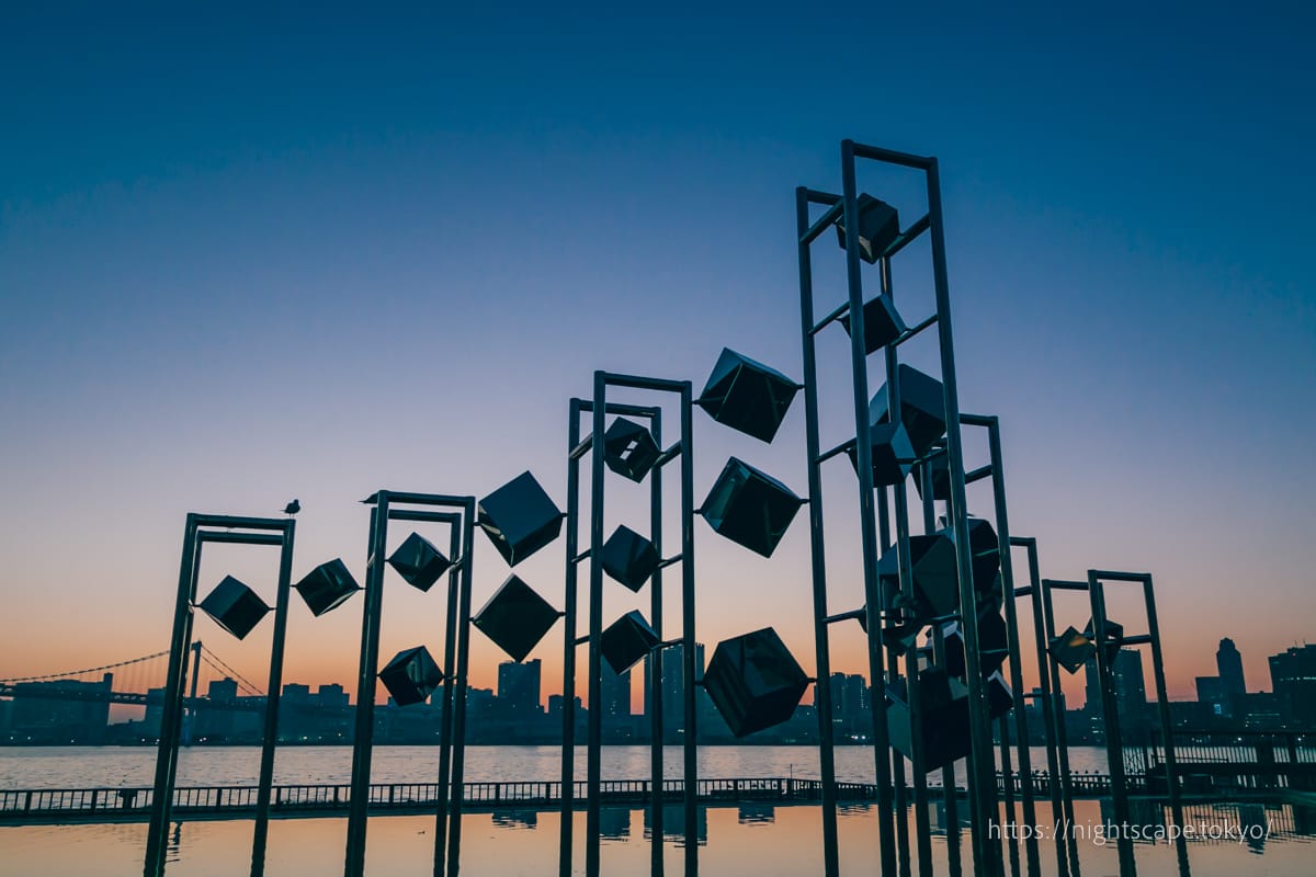
[[[366,873],[366,819],[370,813],[370,761],[375,742],[375,675],[379,671],[379,622],[384,598],[384,552],[388,540],[388,492],[375,494],[370,510],[370,556],[366,601],[361,617],[361,661],[357,673],[357,730],[351,742],[351,792],[347,809],[346,877]]]

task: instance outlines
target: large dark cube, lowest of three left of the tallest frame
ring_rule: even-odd
[[[771,627],[717,643],[704,689],[737,738],[791,718],[809,678]]]

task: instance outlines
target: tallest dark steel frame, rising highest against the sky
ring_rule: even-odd
[[[797,252],[800,268],[800,329],[804,348],[804,393],[805,393],[805,440],[809,471],[809,531],[811,551],[813,557],[813,609],[815,609],[815,643],[817,652],[817,685],[819,688],[819,731],[820,731],[820,767],[822,784],[822,834],[824,834],[824,870],[828,874],[837,873],[837,826],[836,826],[836,765],[832,757],[833,735],[830,727],[830,685],[826,681],[830,668],[830,646],[828,626],[833,622],[854,618],[855,613],[842,613],[829,615],[826,607],[826,561],[824,554],[822,536],[822,504],[821,504],[821,475],[820,465],[825,460],[837,456],[851,446],[851,442],[822,451],[819,439],[819,409],[817,409],[817,363],[815,351],[815,335],[825,326],[838,321],[844,314],[850,317],[850,366],[851,389],[854,401],[855,437],[853,447],[855,452],[855,468],[859,481],[859,533],[863,563],[863,592],[865,592],[865,619],[867,622],[869,642],[869,675],[874,680],[873,699],[873,739],[875,778],[879,788],[879,845],[880,866],[883,873],[896,873],[896,824],[892,802],[892,768],[890,738],[887,734],[886,698],[884,692],[878,688],[878,680],[887,680],[887,661],[883,655],[882,643],[883,615],[887,609],[883,605],[882,589],[878,579],[878,514],[874,501],[873,460],[871,460],[871,430],[869,421],[869,377],[867,354],[863,341],[863,276],[859,264],[859,222],[858,222],[858,189],[855,181],[855,166],[858,160],[871,160],[882,164],[905,167],[921,171],[925,176],[928,195],[928,213],[908,229],[900,233],[896,241],[880,255],[880,281],[883,292],[891,292],[890,259],[903,250],[909,242],[929,233],[932,245],[933,285],[936,293],[936,313],[911,327],[905,334],[886,347],[887,366],[887,393],[888,410],[892,417],[900,410],[899,384],[896,380],[898,356],[896,347],[917,335],[924,329],[937,326],[938,348],[941,358],[941,381],[945,397],[945,454],[950,469],[950,501],[949,517],[955,542],[955,559],[958,589],[962,606],[974,606],[974,584],[970,564],[967,513],[965,508],[965,468],[963,446],[959,435],[959,396],[955,381],[954,343],[950,318],[950,291],[946,271],[946,245],[945,226],[941,209],[941,183],[936,158],[896,153],[892,150],[865,146],[853,141],[841,143],[841,183],[840,196],[828,192],[819,192],[808,188],[796,189],[796,230]],[[822,205],[822,214],[811,220],[809,206]],[[846,284],[849,297],[845,304],[832,310],[820,321],[813,317],[813,276],[811,263],[812,243],[837,221],[845,225],[845,260]],[[895,497],[895,529],[896,550],[899,556],[901,590],[909,593],[912,581],[909,576],[909,533],[908,533],[908,502],[903,489],[894,492]],[[984,689],[979,673],[978,655],[978,623],[973,611],[963,613],[965,657],[967,664],[969,688],[969,723],[970,746],[969,757],[969,803],[970,826],[973,834],[974,869],[978,874],[995,874],[1000,870],[999,845],[996,855],[992,855],[992,845],[988,840],[988,824],[995,819],[995,770],[991,753],[991,723],[987,715]],[[916,659],[915,659],[916,665]],[[907,673],[909,692],[911,722],[913,724],[913,739],[919,739],[921,727],[921,709],[919,703],[917,673]],[[912,753],[916,819],[920,819],[917,830],[919,866],[920,874],[929,874],[932,869],[930,840],[924,822],[926,820],[923,806],[925,790],[923,764],[917,747]]]

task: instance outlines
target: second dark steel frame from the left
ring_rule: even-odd
[[[366,868],[366,826],[370,811],[370,765],[375,738],[379,626],[383,615],[388,522],[415,521],[442,523],[450,527],[449,542],[453,565],[447,572],[447,606],[443,626],[443,703],[440,728],[438,806],[434,826],[434,874],[438,877],[447,873],[455,877],[461,864],[462,803],[465,799],[466,682],[470,664],[475,497],[378,490],[362,502],[371,506],[370,538],[366,598],[361,626],[361,661],[357,677],[351,793],[343,873],[347,877],[361,877]],[[393,508],[395,505],[424,508],[399,509]]]

